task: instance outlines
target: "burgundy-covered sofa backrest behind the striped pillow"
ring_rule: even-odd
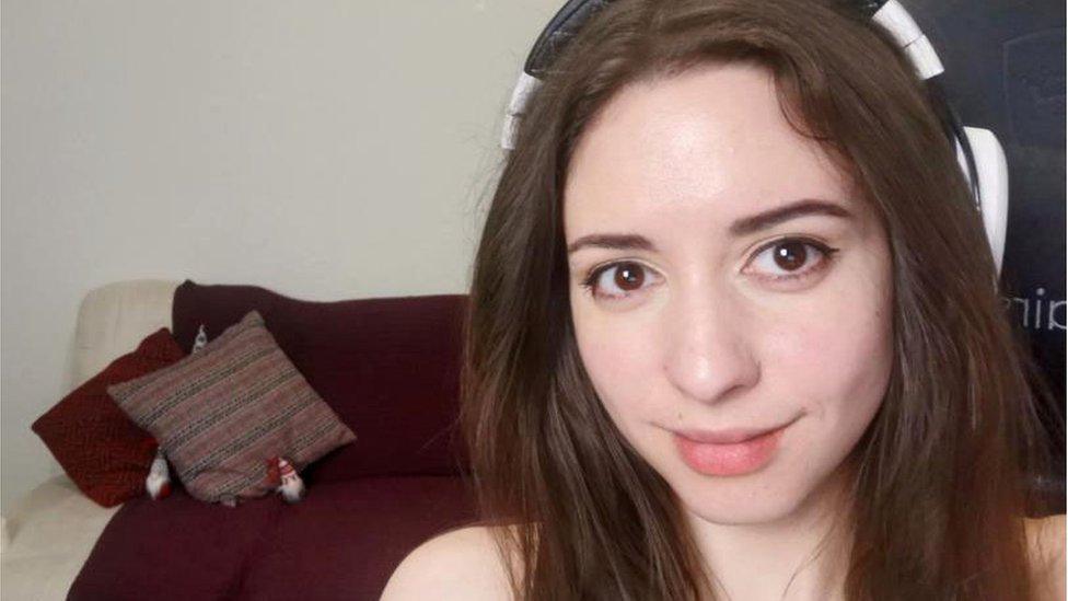
[[[466,296],[316,302],[255,286],[175,290],[175,339],[190,349],[256,309],[278,345],[358,440],[312,465],[310,484],[467,471],[455,428]]]

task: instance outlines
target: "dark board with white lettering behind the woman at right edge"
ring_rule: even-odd
[[[992,130],[1009,161],[1009,223],[1001,273],[1013,323],[1065,424],[1065,2],[902,0],[945,67],[944,88],[965,125]],[[1065,441],[1050,497],[1065,512]]]

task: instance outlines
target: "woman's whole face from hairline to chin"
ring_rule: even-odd
[[[893,290],[885,232],[770,74],[623,90],[576,149],[564,220],[579,351],[623,436],[707,520],[799,510],[882,402]],[[780,429],[675,434],[738,428]]]

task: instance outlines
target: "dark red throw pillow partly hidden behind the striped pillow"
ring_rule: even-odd
[[[171,331],[161,327],[34,421],[33,431],[89,498],[113,507],[143,495],[144,477],[155,456],[155,439],[123,413],[107,386],[185,356]]]

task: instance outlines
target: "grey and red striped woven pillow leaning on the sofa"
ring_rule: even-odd
[[[286,458],[300,472],[356,440],[258,311],[173,366],[107,392],[155,436],[186,490],[208,502],[272,492],[271,458]]]

